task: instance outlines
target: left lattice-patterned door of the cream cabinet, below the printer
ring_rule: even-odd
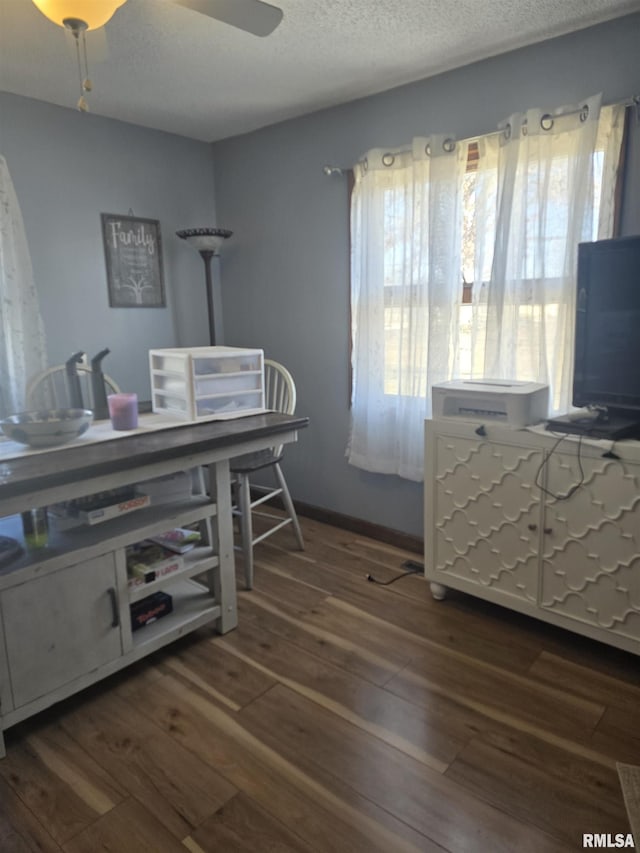
[[[434,455],[428,580],[461,589],[475,584],[496,601],[508,597],[536,604],[540,492],[535,481],[541,452],[446,434],[436,434],[428,452]]]

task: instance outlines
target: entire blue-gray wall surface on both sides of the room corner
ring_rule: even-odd
[[[225,341],[292,369],[311,427],[285,465],[295,497],[420,535],[422,488],[349,466],[350,166],[373,146],[491,131],[517,109],[640,92],[640,15],[326,110],[212,148],[0,93],[0,153],[25,220],[50,363],[105,346],[105,369],[148,398],[147,351],[208,341],[204,271],[179,228],[234,230],[219,267]],[[626,233],[640,232],[640,141]],[[215,163],[215,205],[214,205]],[[100,213],[160,220],[166,309],[109,308]],[[216,218],[217,212],[217,218]]]

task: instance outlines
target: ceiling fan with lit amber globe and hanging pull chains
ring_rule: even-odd
[[[86,112],[89,107],[85,93],[93,88],[89,80],[85,33],[108,23],[117,9],[129,0],[33,0],[45,17],[54,24],[69,30],[75,41],[80,73],[81,95],[78,109]],[[222,21],[255,36],[268,36],[282,20],[282,9],[265,3],[264,0],[168,0],[199,12],[208,18]],[[84,58],[84,73],[82,69]]]

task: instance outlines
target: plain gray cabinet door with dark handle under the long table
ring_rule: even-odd
[[[121,655],[115,578],[106,554],[2,593],[16,708]]]

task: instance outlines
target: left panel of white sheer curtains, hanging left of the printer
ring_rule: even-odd
[[[454,372],[466,162],[466,145],[432,136],[355,168],[347,457],[359,468],[423,478],[431,385]]]

